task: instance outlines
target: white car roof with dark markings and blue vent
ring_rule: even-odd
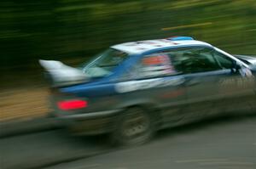
[[[118,49],[127,54],[142,54],[144,52],[158,49],[158,48],[168,48],[168,47],[183,47],[183,46],[212,46],[207,42],[195,41],[193,38],[170,38],[170,39],[155,39],[155,40],[145,40],[137,42],[125,42],[117,45],[113,45],[111,48]]]

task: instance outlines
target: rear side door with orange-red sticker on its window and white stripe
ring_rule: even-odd
[[[186,104],[184,77],[178,75],[167,54],[143,55],[127,76],[128,81],[119,82],[119,88],[126,89],[123,99],[132,104],[156,106],[158,111],[154,113],[160,114],[162,127],[176,125],[183,118],[182,109]]]

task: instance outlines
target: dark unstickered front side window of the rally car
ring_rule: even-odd
[[[220,70],[210,48],[183,48],[166,52],[178,72],[183,74]]]

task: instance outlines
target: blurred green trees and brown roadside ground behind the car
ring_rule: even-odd
[[[38,59],[79,65],[119,42],[191,36],[256,54],[256,0],[1,0],[0,121],[45,115]]]

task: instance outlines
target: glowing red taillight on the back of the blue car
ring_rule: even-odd
[[[58,102],[58,107],[60,110],[78,110],[87,106],[88,102],[81,99],[64,100]]]

